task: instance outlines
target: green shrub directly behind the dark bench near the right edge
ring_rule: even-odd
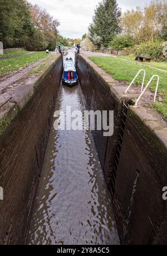
[[[165,60],[163,48],[164,46],[161,44],[161,42],[146,42],[137,48],[136,55],[143,55],[146,57],[151,57],[156,61],[163,61]]]

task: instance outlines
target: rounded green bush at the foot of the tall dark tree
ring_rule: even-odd
[[[135,40],[132,36],[116,36],[109,44],[115,50],[123,50],[124,48],[130,48],[135,45]]]

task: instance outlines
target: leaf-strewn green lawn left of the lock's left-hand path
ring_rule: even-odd
[[[0,76],[5,75],[10,71],[17,71],[22,67],[26,67],[33,62],[45,58],[46,56],[46,52],[35,52],[33,54],[24,54],[21,56],[0,60]]]

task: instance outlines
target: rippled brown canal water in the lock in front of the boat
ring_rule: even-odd
[[[85,110],[80,86],[60,87],[55,110]],[[82,119],[82,116],[80,117]],[[55,130],[53,118],[29,244],[119,244],[104,175],[89,131]],[[60,116],[59,127],[66,124]]]

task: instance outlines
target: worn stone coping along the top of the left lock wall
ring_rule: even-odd
[[[7,86],[6,90],[1,91],[0,83],[0,120],[7,117],[13,119],[17,112],[21,110],[35,92],[36,86],[40,84],[45,76],[61,56],[54,54],[43,59],[42,62],[24,77],[17,80],[14,84]]]

